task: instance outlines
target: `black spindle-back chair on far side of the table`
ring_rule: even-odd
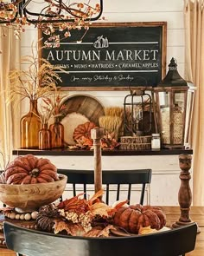
[[[94,172],[92,170],[73,170],[73,169],[58,169],[59,174],[67,175],[67,183],[73,184],[73,196],[76,193],[76,185],[83,185],[84,197],[86,198],[87,185],[94,184]],[[146,184],[151,181],[151,169],[132,169],[132,170],[105,170],[102,172],[102,183],[105,185],[105,203],[109,204],[110,185],[117,185],[116,200],[120,200],[121,185],[127,185],[127,196],[125,200],[131,200],[131,185],[140,184],[141,194],[139,203],[143,205],[143,198]],[[62,198],[61,198],[62,199]],[[134,201],[138,203],[137,200]]]

